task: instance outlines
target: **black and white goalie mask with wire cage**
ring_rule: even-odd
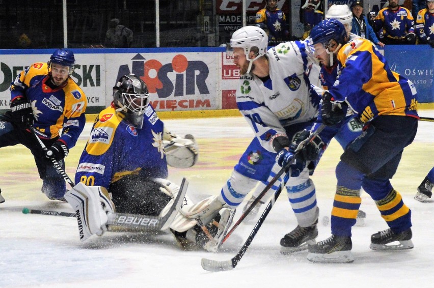
[[[145,82],[134,74],[122,76],[113,87],[113,103],[117,112],[135,128],[143,127],[143,114],[149,103],[149,92]]]

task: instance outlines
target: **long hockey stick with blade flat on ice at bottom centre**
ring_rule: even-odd
[[[302,141],[300,145],[295,149],[295,151],[301,150],[305,143],[311,142],[321,131],[325,128],[324,124],[321,124],[318,129],[310,135],[309,138],[307,138],[307,141]],[[302,145],[303,144],[303,145]],[[284,168],[290,165],[292,161],[290,161],[287,165],[285,165]],[[282,185],[280,186],[280,189],[276,191],[274,194],[274,197],[268,202],[267,207],[265,208],[264,212],[262,213],[261,217],[259,218],[258,222],[256,222],[255,227],[253,227],[252,232],[250,233],[249,237],[247,238],[246,242],[242,245],[241,249],[238,251],[238,253],[231,258],[231,260],[227,261],[216,261],[216,260],[210,260],[206,258],[202,258],[201,265],[202,268],[211,271],[211,272],[217,272],[217,271],[227,271],[232,270],[235,268],[238,264],[238,262],[241,260],[241,257],[246,253],[247,248],[249,248],[250,243],[252,243],[253,238],[255,238],[256,233],[258,233],[259,228],[261,227],[262,223],[265,221],[265,218],[267,217],[268,213],[272,209],[273,205],[276,203],[276,199],[279,197],[280,193],[282,192]],[[252,204],[253,206],[253,204]]]

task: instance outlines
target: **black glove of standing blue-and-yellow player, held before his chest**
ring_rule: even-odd
[[[347,108],[348,104],[345,102],[335,104],[332,94],[325,91],[321,99],[322,123],[327,126],[338,124],[345,118]]]

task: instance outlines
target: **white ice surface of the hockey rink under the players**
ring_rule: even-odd
[[[432,118],[434,110],[421,110],[419,114]],[[194,200],[220,192],[253,137],[241,117],[164,122],[178,135],[193,134],[199,143],[195,166],[169,168],[170,180],[180,184],[185,177],[189,181],[187,193]],[[91,123],[87,123],[66,159],[71,179],[90,128]],[[306,260],[307,251],[282,255],[280,239],[296,226],[286,193],[282,192],[237,267],[214,273],[202,269],[201,258],[230,260],[259,215],[255,222],[241,223],[218,253],[182,251],[172,236],[163,232],[105,233],[82,243],[75,218],[21,213],[24,207],[73,211],[68,204],[51,201],[41,193],[42,181],[29,151],[23,146],[2,148],[0,188],[6,201],[0,204],[0,287],[428,287],[434,275],[434,199],[419,203],[413,197],[434,165],[433,131],[434,122],[419,121],[416,139],[404,150],[392,179],[412,210],[413,249],[369,249],[371,234],[387,225],[373,200],[362,192],[361,210],[367,217],[364,226],[352,229],[354,263],[313,264]],[[341,152],[333,140],[312,177],[320,208],[317,241],[330,236],[330,223],[324,225],[321,219],[330,217],[336,185],[334,169]]]

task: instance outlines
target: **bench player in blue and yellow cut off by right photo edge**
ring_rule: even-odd
[[[417,14],[416,35],[419,44],[429,44],[434,48],[434,0],[426,0],[426,8]]]

